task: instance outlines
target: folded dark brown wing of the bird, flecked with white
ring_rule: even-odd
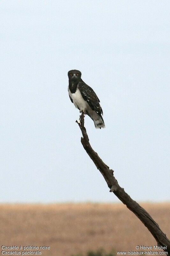
[[[97,97],[96,93],[93,91],[93,89],[85,84],[83,81],[78,83],[78,89],[83,99],[87,101],[92,110],[94,110],[96,113],[99,114],[99,116],[101,116],[101,114],[103,114],[103,111],[100,107],[100,100]]]

